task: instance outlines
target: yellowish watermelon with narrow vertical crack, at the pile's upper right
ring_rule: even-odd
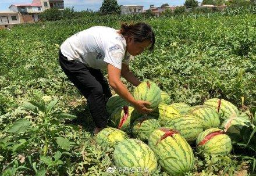
[[[212,98],[204,102],[204,105],[212,107],[221,116],[221,120],[226,120],[227,118],[238,117],[239,110],[232,103],[225,99]]]

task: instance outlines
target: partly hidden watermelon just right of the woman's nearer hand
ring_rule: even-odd
[[[159,123],[163,126],[170,119],[180,116],[180,113],[175,107],[160,103],[158,108],[150,113],[149,116],[158,118]]]

